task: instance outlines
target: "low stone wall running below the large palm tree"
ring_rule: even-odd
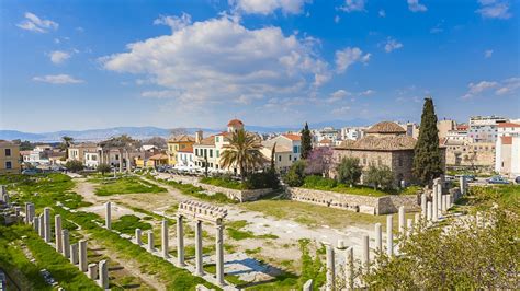
[[[173,179],[176,182],[184,183],[184,184],[192,184],[194,186],[201,187],[206,191],[210,193],[222,193],[227,196],[227,198],[240,201],[240,202],[246,202],[246,201],[255,201],[258,198],[269,194],[272,191],[270,188],[265,189],[255,189],[255,190],[236,190],[236,189],[229,189],[225,187],[218,187],[215,185],[211,184],[204,184],[199,181],[197,177],[192,177],[192,176],[180,176],[180,175],[173,175],[171,176],[170,179]]]

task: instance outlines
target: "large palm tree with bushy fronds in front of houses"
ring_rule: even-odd
[[[221,165],[223,167],[238,167],[244,182],[247,172],[263,162],[260,147],[260,142],[252,133],[239,129],[231,133],[229,146],[225,148],[221,155]]]

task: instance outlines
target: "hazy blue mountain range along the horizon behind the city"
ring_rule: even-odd
[[[352,120],[331,120],[323,123],[310,123],[309,127],[312,129],[323,128],[323,127],[334,127],[341,128],[344,126],[363,126],[370,125],[368,120],[364,119],[352,119]],[[299,131],[303,127],[302,125],[292,125],[292,126],[248,126],[246,129],[250,131],[256,131],[259,133],[270,133],[270,132],[285,132],[285,131]],[[204,135],[213,135],[225,130],[224,128],[177,128],[177,130],[185,131],[189,135],[193,135],[196,130],[204,131]],[[0,130],[0,139],[3,140],[30,140],[33,142],[58,142],[61,140],[61,137],[68,136],[74,138],[77,141],[100,141],[105,140],[111,137],[128,135],[134,139],[149,139],[152,137],[162,137],[168,138],[171,135],[171,129],[159,128],[159,127],[113,127],[113,128],[103,128],[103,129],[87,129],[87,130],[60,130],[53,132],[43,132],[43,133],[32,133],[23,132],[18,130]]]

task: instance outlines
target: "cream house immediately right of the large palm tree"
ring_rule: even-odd
[[[262,141],[260,151],[267,161],[271,162],[274,144],[274,168],[279,173],[285,173],[291,165],[301,159],[302,138],[299,135],[285,133]]]

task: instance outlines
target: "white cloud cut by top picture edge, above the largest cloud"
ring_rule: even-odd
[[[285,14],[299,14],[305,0],[229,0],[229,4],[246,14],[268,15],[276,10]]]

